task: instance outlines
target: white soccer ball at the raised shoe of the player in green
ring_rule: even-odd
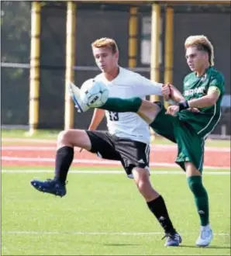
[[[109,98],[109,89],[102,81],[88,79],[80,89],[81,101],[91,108],[98,108]]]

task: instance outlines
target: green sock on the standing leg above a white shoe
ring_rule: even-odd
[[[195,205],[198,209],[201,225],[206,226],[209,224],[209,198],[202,184],[201,176],[188,177],[188,186],[194,195]]]

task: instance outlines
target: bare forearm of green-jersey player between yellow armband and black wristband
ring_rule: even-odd
[[[188,106],[191,108],[206,108],[214,106],[219,99],[220,90],[217,86],[210,86],[207,95],[199,99],[191,99],[188,101]]]

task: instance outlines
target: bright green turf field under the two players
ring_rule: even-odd
[[[205,170],[214,231],[208,248],[195,247],[198,216],[183,172],[153,171],[152,182],[183,238],[174,248],[164,247],[161,228],[124,174],[98,174],[96,168],[94,175],[70,173],[67,195],[60,199],[29,185],[52,173],[2,168],[2,255],[230,255],[229,170]]]

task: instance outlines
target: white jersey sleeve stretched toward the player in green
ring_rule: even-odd
[[[157,83],[156,81],[150,81],[140,74],[136,74],[134,77],[133,94],[140,98],[147,95],[162,95],[161,87],[163,84]]]

